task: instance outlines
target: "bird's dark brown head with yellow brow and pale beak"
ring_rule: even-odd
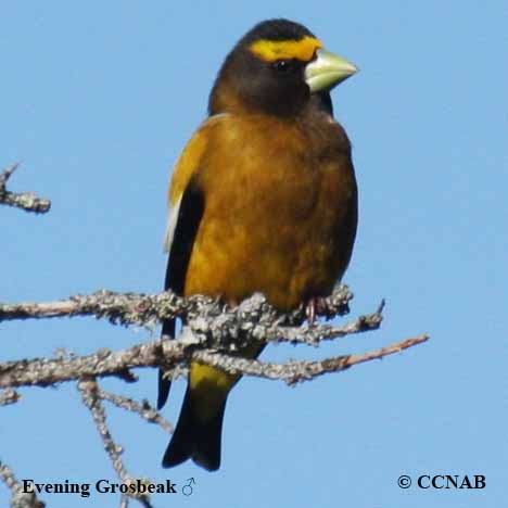
[[[226,58],[209,97],[209,113],[294,116],[357,72],[325,50],[304,26],[269,20],[254,26]]]

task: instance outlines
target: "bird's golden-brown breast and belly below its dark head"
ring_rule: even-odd
[[[291,308],[331,291],[351,255],[356,183],[348,145],[327,136],[257,117],[214,131],[186,294],[238,302],[261,291]]]

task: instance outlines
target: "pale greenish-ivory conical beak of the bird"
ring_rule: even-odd
[[[323,49],[316,51],[316,59],[305,67],[305,82],[310,93],[331,90],[334,86],[358,72],[358,67]]]

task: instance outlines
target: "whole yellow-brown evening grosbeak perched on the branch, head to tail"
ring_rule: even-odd
[[[329,90],[356,71],[287,20],[263,22],[238,42],[173,173],[166,289],[231,304],[262,292],[282,310],[331,293],[353,250],[357,191]],[[175,335],[175,320],[163,334]],[[226,399],[239,379],[191,364],[164,467],[192,458],[219,468]],[[158,408],[168,392],[161,372]]]

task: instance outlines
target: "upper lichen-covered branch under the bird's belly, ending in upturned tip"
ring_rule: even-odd
[[[348,312],[348,302],[352,297],[348,288],[342,285],[328,299],[323,299],[320,312],[327,317],[344,315]],[[215,345],[234,342],[237,347],[241,347],[253,339],[263,342],[316,345],[321,340],[379,328],[382,320],[381,309],[382,307],[342,327],[313,323],[302,328],[300,325],[305,319],[303,306],[292,313],[281,313],[269,305],[259,293],[237,307],[230,307],[216,299],[202,295],[181,297],[173,292],[144,295],[99,291],[88,296],[73,296],[69,300],[51,303],[0,304],[0,321],[96,316],[107,318],[112,322],[143,326],[180,316],[189,322],[195,335],[206,335]]]

